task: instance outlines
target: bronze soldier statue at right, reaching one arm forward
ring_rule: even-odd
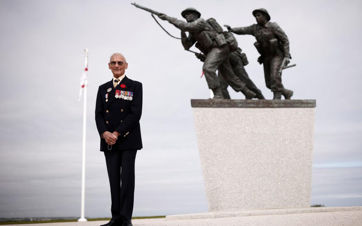
[[[258,62],[264,65],[266,87],[273,91],[273,99],[281,99],[282,94],[285,99],[290,99],[293,91],[284,88],[282,74],[279,73],[279,69],[289,64],[291,59],[288,37],[277,23],[269,22],[270,15],[266,9],[256,9],[253,15],[257,24],[234,28],[225,26],[232,33],[255,36],[257,42],[254,45],[261,55]]]

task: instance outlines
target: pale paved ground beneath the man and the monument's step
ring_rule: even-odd
[[[99,226],[106,221],[43,223],[27,226]],[[249,217],[225,217],[166,221],[165,218],[135,219],[134,226],[362,226],[362,211],[300,213]],[[19,226],[19,225],[13,225]]]

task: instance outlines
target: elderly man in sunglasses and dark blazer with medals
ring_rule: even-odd
[[[113,78],[99,86],[96,100],[100,151],[106,159],[112,201],[112,218],[102,226],[132,226],[135,158],[142,148],[142,83],[126,77],[127,67],[122,54],[110,57]]]

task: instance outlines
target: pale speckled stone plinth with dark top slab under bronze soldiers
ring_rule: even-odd
[[[311,205],[315,100],[191,100],[209,211]]]

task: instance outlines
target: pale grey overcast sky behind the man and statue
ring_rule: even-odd
[[[207,2],[207,3],[206,3]],[[83,101],[89,49],[87,217],[110,217],[104,154],[94,121],[98,86],[123,53],[143,83],[143,149],[136,157],[134,216],[206,212],[190,99],[210,96],[202,63],[130,1],[0,1],[0,217],[80,216]],[[290,40],[283,84],[316,99],[312,204],[362,206],[361,6],[350,1],[138,1],[169,16],[194,7],[232,27],[266,8]],[[174,36],[180,31],[160,23]],[[251,35],[236,35],[249,76],[267,99]],[[193,47],[194,49],[195,47]],[[233,99],[244,99],[230,90]],[[281,116],[282,117],[282,116]]]

